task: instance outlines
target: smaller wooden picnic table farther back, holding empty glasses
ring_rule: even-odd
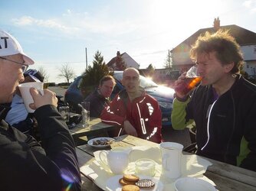
[[[91,118],[88,127],[84,128],[82,123],[79,123],[75,125],[74,128],[71,128],[70,131],[76,145],[80,145],[87,144],[87,138],[82,138],[84,136],[109,137],[108,132],[113,131],[116,128],[118,127],[104,124],[101,122],[100,118]]]

